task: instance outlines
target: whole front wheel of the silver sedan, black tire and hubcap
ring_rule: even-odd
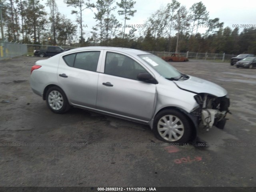
[[[174,123],[173,125],[170,120]],[[168,109],[156,115],[153,133],[156,138],[164,142],[184,144],[191,138],[192,127],[188,118],[183,113]]]

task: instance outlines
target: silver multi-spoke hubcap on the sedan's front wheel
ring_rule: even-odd
[[[178,141],[184,134],[182,121],[174,115],[166,115],[160,118],[157,124],[158,133],[168,141]]]

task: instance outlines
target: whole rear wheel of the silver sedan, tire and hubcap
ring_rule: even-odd
[[[54,113],[65,113],[70,109],[65,93],[58,86],[53,86],[47,90],[46,103]]]

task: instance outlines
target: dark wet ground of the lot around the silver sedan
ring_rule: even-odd
[[[28,81],[39,59],[0,61],[0,186],[256,186],[256,69],[172,62],[229,92],[226,127],[202,131],[210,147],[198,149],[86,110],[52,113]]]

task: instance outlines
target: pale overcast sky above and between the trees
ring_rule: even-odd
[[[119,2],[120,0],[117,1]],[[235,25],[238,25],[239,32],[242,32],[243,24],[250,24],[256,27],[256,6],[251,0],[243,0],[239,1],[239,3],[231,0],[201,1],[206,6],[210,19],[219,18],[220,22],[224,22],[224,27],[229,26],[233,30]],[[95,2],[95,0],[91,0],[90,2]],[[144,24],[152,13],[156,12],[156,10],[161,6],[165,6],[170,2],[171,0],[136,0],[134,9],[137,10],[137,12],[134,14],[134,17],[127,21],[126,24]],[[178,2],[180,2],[181,6],[184,5],[189,9],[194,3],[200,2],[200,0],[178,0]],[[64,0],[56,0],[56,3],[58,4],[58,10],[60,13],[65,14],[74,22],[74,24],[77,24],[75,22],[75,16],[70,14],[71,11],[75,9],[73,7],[67,7]],[[48,10],[47,6],[46,10]],[[117,10],[118,8],[116,9],[115,15],[120,22],[124,22],[122,16],[118,16]],[[83,11],[83,24],[88,26],[84,28],[86,33],[85,38],[90,36],[92,27],[96,25],[96,21],[93,17],[94,14],[91,10]],[[198,32],[204,33],[206,29],[207,28],[199,28]],[[138,28],[138,31],[140,31],[140,28]]]

